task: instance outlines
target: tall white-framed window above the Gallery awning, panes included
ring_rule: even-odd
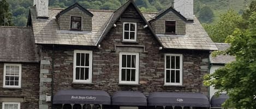
[[[73,82],[92,82],[92,51],[74,50]]]

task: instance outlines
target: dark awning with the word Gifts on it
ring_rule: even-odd
[[[153,92],[147,102],[148,106],[210,107],[209,99],[201,93]]]

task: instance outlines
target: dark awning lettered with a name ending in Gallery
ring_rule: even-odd
[[[110,105],[110,96],[105,91],[70,89],[58,91],[53,104],[103,104]]]

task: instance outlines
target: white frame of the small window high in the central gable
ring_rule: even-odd
[[[129,30],[124,30],[124,25],[129,24]],[[135,25],[135,30],[131,31],[130,30],[130,24]],[[129,39],[124,39],[124,32],[129,32]],[[134,32],[134,40],[130,39],[130,32]],[[129,42],[136,42],[137,41],[137,23],[136,22],[123,22],[123,41],[129,41]]]

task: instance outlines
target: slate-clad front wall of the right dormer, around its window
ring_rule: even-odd
[[[165,34],[165,21],[176,21],[176,33],[177,35],[186,34],[186,22],[178,17],[174,12],[169,11],[158,20],[151,23],[152,28],[156,34]]]

